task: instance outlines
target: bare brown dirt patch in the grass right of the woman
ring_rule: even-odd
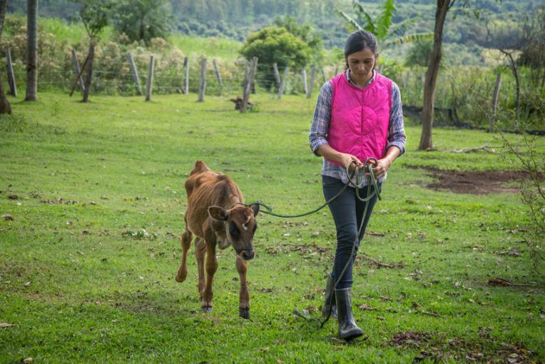
[[[518,186],[505,186],[529,178],[525,171],[450,171],[433,167],[411,166],[422,169],[437,181],[429,183],[427,188],[436,191],[448,190],[454,193],[516,193]]]

